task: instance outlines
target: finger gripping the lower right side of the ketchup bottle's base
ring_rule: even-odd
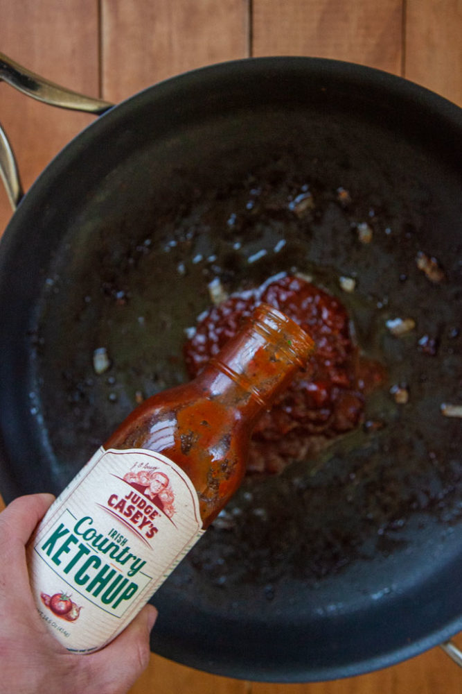
[[[151,604],[145,605],[112,643],[91,656],[95,682],[104,683],[107,691],[113,694],[126,694],[148,667],[149,635],[156,619],[157,609]],[[106,691],[104,686],[100,689]]]

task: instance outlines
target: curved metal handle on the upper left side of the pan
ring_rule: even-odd
[[[31,96],[37,101],[43,101],[51,106],[67,108],[74,111],[83,111],[101,115],[112,108],[114,104],[102,99],[92,99],[85,94],[79,94],[60,87],[40,77],[8,56],[0,53],[0,81],[15,87],[19,92]],[[0,177],[6,187],[8,199],[13,210],[17,208],[23,196],[21,179],[15,162],[15,156],[6,137],[6,133],[0,126]]]

